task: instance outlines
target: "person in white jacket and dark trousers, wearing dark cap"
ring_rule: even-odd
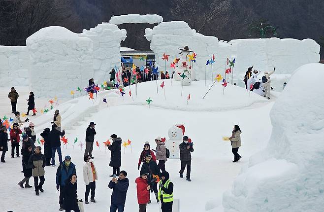
[[[90,155],[84,156],[83,159],[84,162],[86,162],[86,164],[83,166],[83,179],[84,182],[86,183],[86,193],[84,196],[84,203],[89,204],[88,196],[90,190],[91,190],[90,201],[96,203],[97,201],[95,200],[95,190],[96,190],[96,179],[98,179],[97,169]]]

